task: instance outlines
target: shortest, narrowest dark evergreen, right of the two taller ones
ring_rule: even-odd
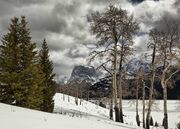
[[[53,112],[54,100],[53,96],[56,93],[56,83],[53,80],[55,74],[53,74],[53,63],[49,59],[49,49],[44,39],[42,49],[40,51],[40,67],[45,74],[44,90],[43,90],[43,104],[42,110],[46,112]]]

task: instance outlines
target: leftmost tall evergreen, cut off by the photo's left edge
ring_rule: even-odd
[[[9,32],[3,36],[0,45],[0,102],[12,104],[15,99],[12,85],[17,82],[19,71],[19,23],[11,19]]]

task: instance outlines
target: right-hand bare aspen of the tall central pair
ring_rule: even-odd
[[[122,111],[122,74],[126,71],[123,70],[123,64],[126,63],[127,57],[133,54],[133,36],[139,30],[138,23],[134,20],[133,16],[128,16],[127,12],[124,12],[122,18],[123,22],[121,23],[121,30],[119,34],[119,43],[118,43],[118,57],[119,57],[119,78],[118,78],[118,88],[119,88],[119,111],[120,111],[120,122],[123,120],[123,111]]]

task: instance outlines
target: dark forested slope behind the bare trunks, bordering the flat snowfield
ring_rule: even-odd
[[[134,88],[134,79],[129,79],[126,90],[129,92],[124,92],[123,99],[136,99]],[[147,82],[149,83],[149,82]],[[179,100],[180,99],[180,80],[173,82],[174,87],[169,87],[167,90],[167,95],[169,100]],[[91,85],[89,87],[89,98],[100,98],[100,97],[109,97],[111,95],[111,81],[108,78],[103,78],[99,82]],[[163,99],[162,87],[159,81],[155,82],[155,91],[156,95],[154,99]],[[139,89],[139,96],[142,96],[142,89]],[[148,99],[149,90],[146,89],[146,99]]]

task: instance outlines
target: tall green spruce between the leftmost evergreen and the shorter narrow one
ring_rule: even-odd
[[[20,86],[24,89],[23,100],[17,101],[17,105],[40,110],[42,104],[43,73],[38,66],[35,43],[31,42],[30,32],[27,28],[25,17],[20,21]],[[21,92],[16,92],[17,96]]]

